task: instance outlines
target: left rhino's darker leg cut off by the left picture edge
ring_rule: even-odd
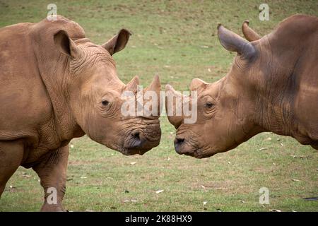
[[[0,197],[23,158],[23,141],[0,141]]]

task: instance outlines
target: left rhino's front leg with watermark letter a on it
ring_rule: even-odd
[[[40,177],[45,192],[45,200],[41,211],[64,211],[62,206],[66,190],[66,169],[69,159],[69,145],[49,153],[33,169]]]

